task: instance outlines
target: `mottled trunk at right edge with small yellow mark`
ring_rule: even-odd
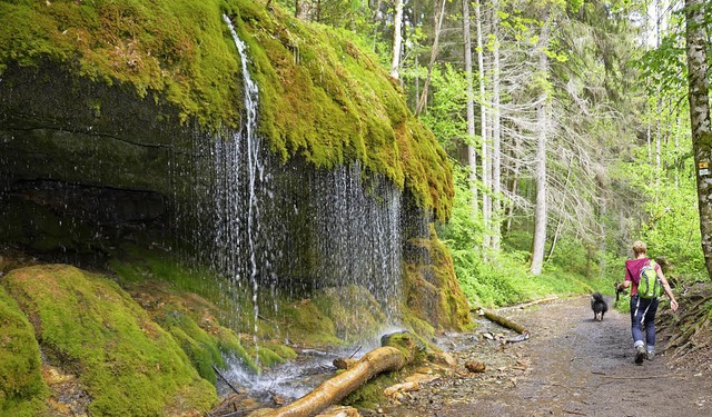
[[[703,14],[704,0],[685,0],[688,40],[688,82],[690,91],[690,127],[696,165],[698,201],[702,251],[708,274],[712,276],[712,128],[710,123],[710,97],[706,60],[706,34]]]

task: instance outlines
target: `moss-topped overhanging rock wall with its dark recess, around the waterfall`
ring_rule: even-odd
[[[0,1],[0,241],[99,266],[126,241],[170,245],[181,205],[200,207],[215,186],[200,152],[240,128],[240,61],[222,14],[249,47],[259,131],[295,178],[357,162],[404,190],[404,224],[447,218],[445,152],[350,33],[248,0]],[[309,228],[290,225],[307,241]],[[462,328],[452,265],[428,250],[408,260],[408,317]]]

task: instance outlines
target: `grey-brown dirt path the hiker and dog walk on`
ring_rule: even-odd
[[[380,415],[712,416],[708,373],[670,369],[664,355],[633,364],[625,314],[609,311],[602,322],[593,321],[587,297],[501,314],[531,329],[532,338],[500,347],[479,330],[448,340],[461,367],[474,359],[485,363],[487,371],[431,383],[402,404],[384,406]],[[457,349],[466,341],[469,348]]]

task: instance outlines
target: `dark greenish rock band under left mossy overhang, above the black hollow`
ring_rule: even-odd
[[[0,81],[6,185],[51,179],[165,192],[170,157],[190,138],[174,109],[132,87],[50,67],[11,67]]]

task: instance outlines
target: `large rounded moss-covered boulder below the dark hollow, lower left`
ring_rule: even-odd
[[[206,411],[217,400],[172,337],[115,282],[69,266],[16,269],[4,281],[50,364],[71,369],[97,415]]]

